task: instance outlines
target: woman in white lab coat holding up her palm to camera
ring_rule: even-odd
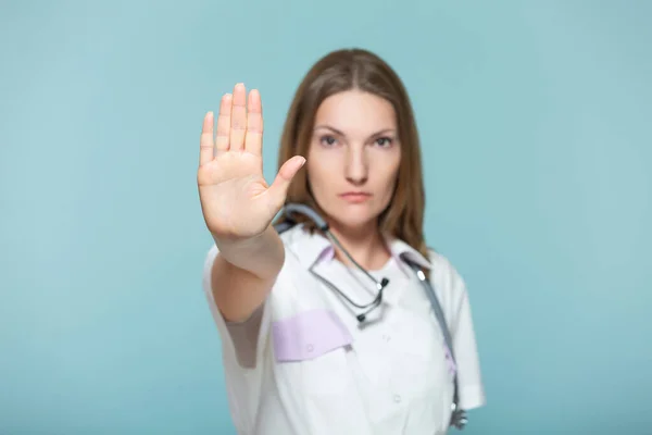
[[[241,84],[225,95],[215,137],[213,114],[204,119],[198,171],[215,240],[203,285],[238,432],[446,433],[452,373],[464,409],[485,402],[484,388],[464,283],[424,240],[419,144],[401,80],[368,51],[321,59],[292,101],[272,185],[261,108]],[[274,217],[294,202],[317,211],[341,246],[301,214],[279,234]],[[379,303],[341,247],[388,279]],[[436,288],[456,366],[409,263]]]

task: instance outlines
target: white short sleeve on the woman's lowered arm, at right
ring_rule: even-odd
[[[471,303],[464,279],[451,265],[450,285],[452,299],[451,336],[457,365],[460,406],[473,409],[486,403],[485,387],[480,374],[480,363],[473,327]]]

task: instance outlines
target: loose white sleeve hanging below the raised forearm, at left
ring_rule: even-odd
[[[242,323],[227,322],[215,303],[211,286],[216,257],[217,247],[213,245],[205,258],[202,286],[222,341],[225,384],[234,424],[238,433],[249,433],[250,427],[247,426],[254,421],[262,386],[269,309],[268,303],[264,303],[251,319]]]

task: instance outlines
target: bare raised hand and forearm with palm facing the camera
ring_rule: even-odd
[[[263,303],[285,261],[280,237],[271,226],[292,177],[305,163],[297,156],[269,186],[263,177],[263,115],[260,94],[244,85],[222,97],[217,130],[204,116],[197,184],[201,210],[220,253],[211,287],[222,315],[240,322]]]

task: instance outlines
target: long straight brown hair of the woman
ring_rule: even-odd
[[[319,59],[308,72],[290,105],[280,139],[278,167],[294,156],[308,156],[314,120],[322,102],[338,92],[359,89],[389,101],[397,115],[401,163],[393,198],[379,216],[384,233],[400,238],[425,258],[428,251],[423,235],[425,194],[419,139],[408,92],[397,73],[378,55],[362,49],[337,50]],[[301,202],[324,215],[314,200],[305,166],[297,173],[288,189],[286,203]],[[283,222],[280,216],[277,222]],[[292,216],[314,231],[302,215]]]

